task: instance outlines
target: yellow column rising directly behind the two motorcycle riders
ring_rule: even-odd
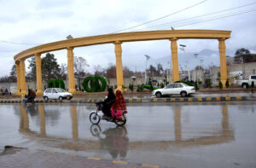
[[[124,85],[124,77],[121,42],[117,41],[114,43],[114,53],[116,58],[116,83],[118,86],[117,90],[122,90],[122,86]]]

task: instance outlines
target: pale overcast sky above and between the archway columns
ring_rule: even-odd
[[[186,9],[193,5],[195,7]],[[226,10],[231,8],[236,9]],[[170,30],[171,26],[175,29],[229,30],[232,32],[231,38],[226,40],[226,48],[233,55],[239,48],[256,50],[256,0],[0,0],[0,76],[9,75],[15,63],[14,56],[24,49],[64,40],[69,34],[80,38],[117,32],[167,14],[171,15],[125,32]],[[197,17],[202,15],[206,16]],[[177,43],[186,44],[188,53],[218,50],[218,40],[189,39]],[[145,68],[143,55],[150,55],[152,64],[154,60],[171,55],[168,40],[123,43],[122,49],[123,66],[131,70]],[[52,53],[60,64],[67,63],[67,50]],[[181,53],[179,50],[179,56]],[[88,61],[87,71],[90,72],[95,65],[108,67],[109,62],[115,63],[112,43],[76,48],[74,55]],[[218,59],[218,55],[211,59]]]

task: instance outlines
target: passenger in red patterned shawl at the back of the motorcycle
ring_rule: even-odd
[[[111,107],[111,113],[112,117],[116,117],[118,119],[118,115],[120,117],[122,112],[126,110],[126,103],[125,98],[120,90],[117,90],[115,95],[115,100]]]

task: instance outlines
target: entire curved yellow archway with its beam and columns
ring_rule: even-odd
[[[134,41],[148,41],[167,39],[171,41],[172,49],[172,80],[179,80],[178,76],[178,61],[177,61],[177,40],[187,38],[199,39],[218,39],[219,56],[220,56],[220,73],[221,80],[227,79],[227,67],[225,58],[225,39],[230,38],[230,31],[218,30],[170,30],[170,31],[149,31],[149,32],[124,32],[113,33],[99,36],[90,36],[84,38],[73,38],[54,43],[45,43],[26,49],[15,55],[15,64],[17,71],[17,89],[21,90],[20,94],[26,93],[26,78],[25,78],[25,63],[24,61],[32,56],[36,56],[37,66],[37,94],[42,94],[42,75],[41,75],[41,58],[40,55],[46,52],[67,49],[67,65],[68,65],[68,84],[69,91],[75,92],[74,72],[73,72],[73,48],[89,45],[113,43],[115,45],[116,55],[116,73],[118,89],[124,84],[123,67],[122,67],[122,47],[121,43]]]

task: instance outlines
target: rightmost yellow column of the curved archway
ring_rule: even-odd
[[[225,87],[227,75],[227,63],[226,63],[226,54],[225,54],[225,38],[218,39],[218,49],[219,49],[219,61],[220,61],[220,80]]]

